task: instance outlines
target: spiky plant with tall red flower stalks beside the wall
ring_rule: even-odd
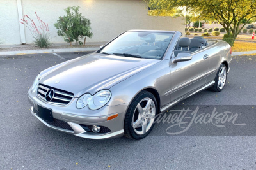
[[[51,45],[48,24],[43,22],[36,12],[35,14],[39,25],[35,24],[34,20],[29,18],[28,15],[25,15],[24,18],[21,19],[20,23],[24,24],[29,29],[36,46],[39,46],[40,48],[47,48]]]

